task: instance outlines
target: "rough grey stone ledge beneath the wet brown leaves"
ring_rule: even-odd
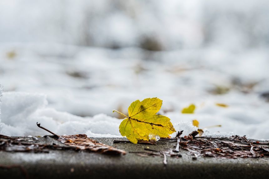
[[[54,139],[44,138],[44,142]],[[176,143],[166,141],[163,145],[115,143],[122,138],[95,138],[95,140],[123,149],[126,155],[113,156],[99,153],[51,150],[49,153],[0,152],[0,166],[20,165],[29,178],[268,178],[269,157],[221,159],[198,157],[193,160],[186,151],[182,157],[140,157],[135,153],[144,148],[165,150]],[[1,169],[0,178],[23,178],[19,168]]]

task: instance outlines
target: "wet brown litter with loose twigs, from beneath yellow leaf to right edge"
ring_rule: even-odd
[[[164,165],[167,165],[167,157],[182,157],[181,152],[187,151],[187,155],[192,156],[193,160],[197,157],[215,157],[215,158],[259,158],[269,157],[269,142],[261,143],[247,139],[245,136],[231,136],[231,137],[196,137],[199,132],[193,131],[189,135],[180,137],[183,131],[177,133],[175,138],[162,138],[157,141],[175,143],[174,149],[168,148],[162,151],[144,148],[145,151],[129,152],[135,153],[140,157],[160,156],[164,158]],[[114,143],[129,142],[127,140],[116,140]],[[183,152],[182,152],[183,153]]]

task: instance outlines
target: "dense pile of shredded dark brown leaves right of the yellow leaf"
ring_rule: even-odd
[[[179,143],[182,149],[187,150],[189,155],[194,155],[196,158],[197,156],[222,158],[269,156],[269,149],[263,146],[268,144],[251,142],[245,136],[195,137],[196,133],[195,131],[190,133],[184,137],[186,142]]]

